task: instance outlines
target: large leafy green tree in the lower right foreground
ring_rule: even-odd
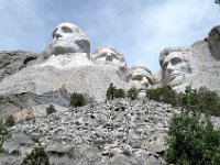
[[[166,161],[176,165],[220,164],[220,131],[198,110],[198,91],[187,87],[182,112],[174,114],[167,133]]]

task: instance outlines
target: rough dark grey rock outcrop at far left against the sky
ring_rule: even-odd
[[[36,54],[24,51],[0,52],[0,80],[30,65],[36,57]]]

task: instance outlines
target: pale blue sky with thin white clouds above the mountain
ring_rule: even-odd
[[[215,0],[0,0],[0,51],[44,51],[62,22],[77,24],[91,43],[114,47],[129,66],[160,69],[165,47],[190,46],[220,24]]]

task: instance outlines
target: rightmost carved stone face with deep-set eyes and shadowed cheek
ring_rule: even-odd
[[[185,59],[186,56],[186,54],[173,52],[165,57],[162,70],[166,85],[175,87],[183,82],[186,74],[190,73],[188,62]]]

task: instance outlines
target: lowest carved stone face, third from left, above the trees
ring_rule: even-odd
[[[134,87],[139,91],[139,97],[146,95],[146,89],[153,85],[153,77],[150,70],[143,67],[134,67],[130,70],[130,87]]]

